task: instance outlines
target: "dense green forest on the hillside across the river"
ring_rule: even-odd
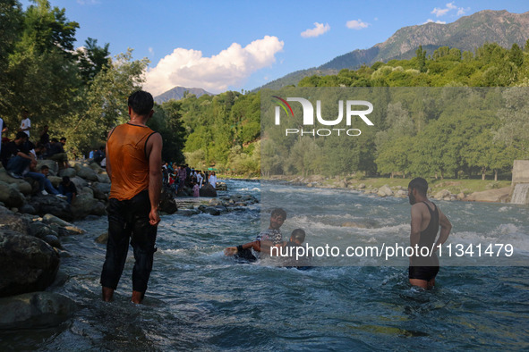
[[[239,173],[258,173],[262,163],[265,174],[491,174],[496,179],[500,172],[510,172],[513,160],[529,157],[528,73],[529,43],[525,50],[491,43],[474,53],[440,47],[428,54],[420,47],[411,60],[307,77],[297,88],[371,88],[368,96],[383,105],[376,113],[376,129],[363,130],[346,143],[318,136],[292,140],[270,136],[263,122],[261,155],[251,143],[260,136],[259,103],[266,90],[189,96],[179,102],[188,136],[186,155],[193,163]],[[430,88],[417,92],[413,87]],[[397,89],[378,94],[382,88]],[[275,94],[289,96],[293,89]],[[331,92],[321,94],[339,94]],[[268,104],[263,101],[263,109]]]

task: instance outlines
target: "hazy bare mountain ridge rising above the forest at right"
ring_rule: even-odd
[[[433,51],[440,46],[456,47],[462,52],[474,52],[476,47],[486,42],[495,42],[499,46],[510,48],[514,43],[520,47],[525,46],[527,39],[529,39],[529,12],[483,10],[448,24],[430,22],[398,29],[388,40],[369,49],[357,49],[337,56],[319,67],[294,71],[260,88],[278,89],[295,85],[303,77],[314,74],[336,74],[342,69],[355,70],[363,63],[371,65],[377,61],[387,63],[393,59],[410,59],[414,57],[415,50],[419,46],[422,46],[427,54],[433,54]]]

